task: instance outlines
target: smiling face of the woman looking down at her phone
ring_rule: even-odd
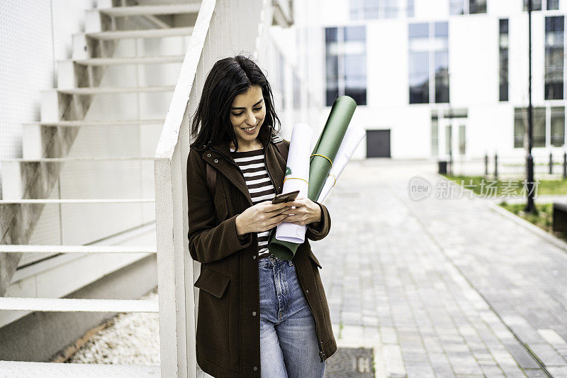
[[[230,122],[239,145],[249,145],[258,137],[264,118],[266,118],[266,106],[264,106],[262,87],[253,85],[245,93],[235,97],[230,106]]]

